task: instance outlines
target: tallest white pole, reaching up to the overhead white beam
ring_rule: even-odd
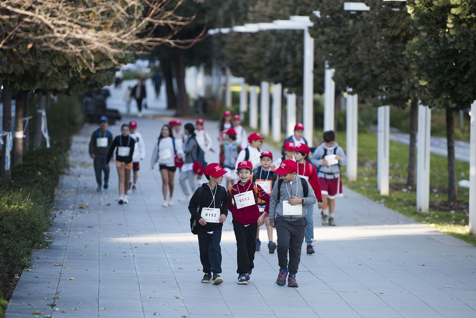
[[[314,133],[314,38],[309,35],[309,30],[304,29],[304,77],[303,77],[303,125],[304,138],[308,146],[312,146]],[[293,125],[294,128],[294,125]]]

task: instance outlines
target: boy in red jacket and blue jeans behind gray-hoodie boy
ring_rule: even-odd
[[[297,161],[297,174],[307,179],[309,184],[311,185],[312,189],[314,190],[314,194],[317,198],[317,207],[319,209],[322,208],[322,196],[321,196],[321,185],[319,183],[319,177],[317,177],[316,167],[314,167],[310,162],[307,161],[307,157],[309,156],[309,152],[311,150],[307,147],[306,144],[300,144],[297,147],[294,147],[294,158]],[[312,241],[314,240],[314,221],[312,219],[312,214],[314,210],[313,205],[306,206],[307,214],[307,226],[306,230],[304,231],[304,239],[306,240],[306,251],[307,254],[314,253],[314,247],[312,246]]]

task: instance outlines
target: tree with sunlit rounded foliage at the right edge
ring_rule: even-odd
[[[454,111],[476,99],[475,0],[408,0],[415,36],[406,54],[427,105],[446,108],[448,201],[457,199]]]

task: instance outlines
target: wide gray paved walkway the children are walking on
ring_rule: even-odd
[[[95,127],[86,125],[73,139],[72,168],[58,185],[54,241],[34,252],[35,267],[22,273],[8,318],[35,317],[37,310],[37,317],[80,318],[476,317],[476,248],[349,189],[338,199],[337,227],[322,227],[315,209],[316,254],[306,255],[303,244],[299,288],[274,283],[278,259],[266,243],[256,253],[250,284],[236,284],[231,215],[221,244],[225,282],[201,284],[188,203],[177,202],[178,174],[176,203],[162,208],[159,171],[149,169],[152,145],[169,118],[134,119],[148,147],[139,190],[128,205],[118,205],[110,165],[109,190],[95,191],[87,150]],[[111,127],[114,134],[119,126]],[[216,140],[216,122],[205,127]],[[217,153],[208,156],[217,159]],[[266,238],[264,227],[260,236]]]

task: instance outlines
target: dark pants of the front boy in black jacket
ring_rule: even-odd
[[[204,273],[221,273],[221,229],[207,232],[198,232],[198,248],[200,261]]]

